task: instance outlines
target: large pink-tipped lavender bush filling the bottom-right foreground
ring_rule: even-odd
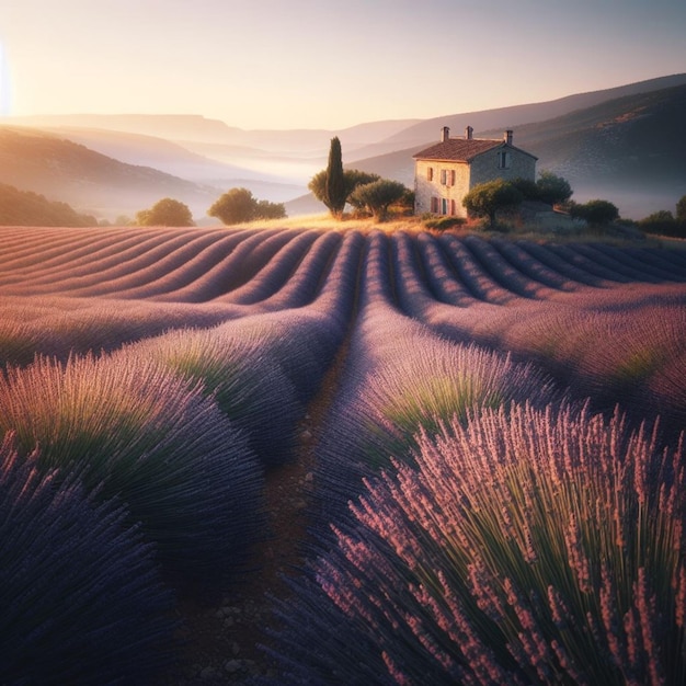
[[[684,457],[585,408],[422,433],[282,605],[281,682],[683,684]]]

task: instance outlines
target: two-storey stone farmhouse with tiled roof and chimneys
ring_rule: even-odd
[[[462,198],[480,183],[495,179],[536,181],[535,156],[512,145],[512,130],[503,138],[475,138],[472,127],[464,138],[450,138],[443,127],[441,141],[414,158],[414,214],[467,217]]]

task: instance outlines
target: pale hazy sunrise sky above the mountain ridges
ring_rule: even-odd
[[[685,0],[0,0],[0,114],[336,130],[682,73],[685,36]]]

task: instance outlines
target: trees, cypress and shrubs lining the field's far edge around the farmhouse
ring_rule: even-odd
[[[346,206],[352,208],[355,218],[373,217],[384,221],[391,208],[397,213],[412,214],[414,193],[402,183],[382,179],[378,174],[357,169],[344,169],[341,141],[331,139],[329,160],[325,169],[317,172],[308,188],[336,219],[343,219]],[[496,225],[500,213],[516,209],[525,201],[539,201],[557,206],[574,219],[582,219],[591,226],[605,226],[619,219],[618,208],[605,199],[576,203],[571,199],[573,191],[569,182],[549,171],[542,171],[536,182],[526,179],[505,181],[498,179],[475,186],[464,198],[462,204],[471,217],[483,217],[489,226]],[[259,199],[244,187],[230,188],[207,210],[227,226],[261,219],[285,218],[283,203]],[[442,226],[465,221],[459,217],[434,220]],[[686,195],[676,204],[676,213],[660,210],[633,224],[648,233],[659,233],[686,238]],[[136,213],[132,221],[118,217],[117,224],[136,226],[195,226],[191,209],[184,203],[165,197],[152,207]],[[67,203],[48,201],[31,191],[0,184],[0,225],[5,226],[96,226],[95,217],[77,213]],[[104,222],[106,224],[106,222]]]

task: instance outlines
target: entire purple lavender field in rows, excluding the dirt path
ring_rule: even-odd
[[[176,594],[241,583],[331,378],[260,683],[686,679],[685,252],[0,237],[1,683],[172,664]]]

